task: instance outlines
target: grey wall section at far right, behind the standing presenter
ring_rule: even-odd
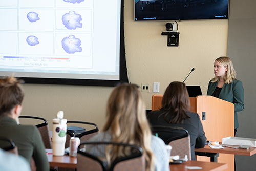
[[[237,66],[237,78],[243,82],[244,110],[238,112],[239,129],[236,137],[256,138],[255,115],[255,63],[256,63],[256,13],[255,0],[232,0],[230,3],[228,56]],[[239,33],[242,31],[242,34]],[[256,155],[236,155],[237,170],[255,170]]]

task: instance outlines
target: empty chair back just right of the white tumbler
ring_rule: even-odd
[[[92,130],[88,130],[85,131],[83,133],[80,133],[79,135],[77,135],[78,138],[80,138],[81,142],[87,142],[91,137],[93,137],[95,134],[99,133],[99,129],[98,126],[95,123],[91,123],[91,122],[83,122],[83,121],[67,121],[67,124],[69,123],[78,123],[78,124],[84,124],[85,125],[93,125],[95,127],[95,129]],[[69,147],[69,140],[71,137],[73,137],[74,135],[67,130],[67,139],[66,139],[66,144],[65,144],[65,148]]]

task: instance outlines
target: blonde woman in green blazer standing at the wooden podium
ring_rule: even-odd
[[[208,84],[207,95],[234,103],[234,136],[238,125],[237,112],[244,109],[244,88],[236,78],[233,63],[226,56],[219,57],[214,62],[215,77]]]

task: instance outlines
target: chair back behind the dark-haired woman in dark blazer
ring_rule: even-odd
[[[172,146],[172,156],[179,155],[184,158],[187,155],[188,160],[191,160],[190,136],[188,131],[182,127],[176,126],[151,126],[152,133],[157,133],[166,145]]]

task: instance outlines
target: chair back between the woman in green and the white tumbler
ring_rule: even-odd
[[[49,125],[45,118],[36,117],[36,116],[19,116],[19,118],[30,118],[30,119],[38,119],[44,121],[43,123],[35,125],[42,137],[42,141],[44,141],[45,148],[52,149],[52,139],[50,135]]]

